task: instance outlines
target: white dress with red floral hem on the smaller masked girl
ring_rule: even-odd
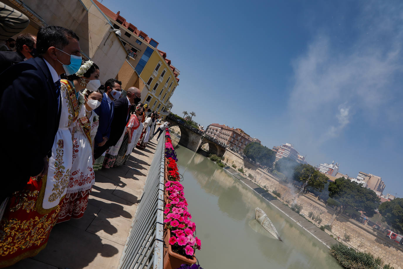
[[[72,217],[83,217],[87,209],[88,196],[95,183],[95,174],[92,167],[92,141],[98,130],[99,120],[96,113],[91,111],[77,120],[73,142],[73,165],[70,173],[66,196],[60,203],[60,213],[57,223],[68,221]]]

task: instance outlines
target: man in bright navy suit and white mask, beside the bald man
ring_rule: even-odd
[[[108,149],[108,140],[111,132],[112,121],[115,114],[115,104],[113,100],[119,98],[120,94],[116,94],[122,90],[122,82],[117,79],[108,79],[105,82],[105,92],[101,105],[94,111],[99,118],[98,131],[95,135],[94,158],[98,159],[102,153]],[[114,95],[112,95],[114,94]]]

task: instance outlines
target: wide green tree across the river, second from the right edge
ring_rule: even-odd
[[[380,204],[380,199],[373,190],[363,188],[361,184],[339,177],[329,184],[329,196],[341,203],[343,210],[363,211],[372,217]]]

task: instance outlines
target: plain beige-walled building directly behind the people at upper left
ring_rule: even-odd
[[[83,58],[100,67],[100,80],[115,77],[127,57],[120,38],[112,31],[113,24],[93,0],[5,0],[30,19],[23,33],[37,33],[39,27],[58,25],[71,29],[80,38]]]

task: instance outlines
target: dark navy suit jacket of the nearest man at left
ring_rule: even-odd
[[[42,57],[12,65],[0,74],[0,81],[0,122],[4,128],[0,141],[6,153],[2,167],[10,173],[2,180],[2,200],[42,171],[58,130],[61,104]]]

